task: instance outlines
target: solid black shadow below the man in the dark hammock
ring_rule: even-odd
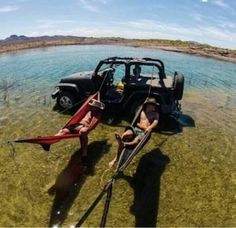
[[[130,212],[135,216],[136,227],[156,227],[161,175],[169,162],[159,148],[154,149],[141,158],[133,177],[122,176],[134,189]]]

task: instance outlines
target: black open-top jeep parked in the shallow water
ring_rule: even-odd
[[[91,72],[79,72],[61,79],[52,93],[61,109],[69,109],[86,97],[101,92],[101,100],[117,112],[134,114],[147,97],[155,97],[162,114],[180,111],[184,77],[165,73],[164,63],[152,58],[111,57],[101,60]]]

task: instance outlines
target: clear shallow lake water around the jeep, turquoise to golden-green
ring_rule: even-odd
[[[0,55],[0,226],[47,226],[53,196],[47,191],[78,151],[65,140],[45,153],[6,140],[53,134],[70,118],[52,111],[50,98],[61,77],[94,69],[109,56],[160,58],[168,74],[186,79],[182,110],[195,127],[153,133],[116,181],[107,226],[236,226],[236,65],[165,52],[117,46],[66,46]],[[90,134],[90,173],[63,225],[74,225],[112,175],[107,164],[117,145],[116,126],[100,124]],[[104,202],[104,200],[102,201]],[[98,226],[103,204],[85,226]],[[143,210],[145,208],[145,210]]]

